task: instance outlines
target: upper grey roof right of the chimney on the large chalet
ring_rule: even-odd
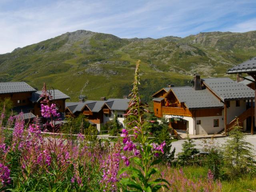
[[[254,90],[230,78],[206,78],[203,81],[222,101],[254,98]]]

